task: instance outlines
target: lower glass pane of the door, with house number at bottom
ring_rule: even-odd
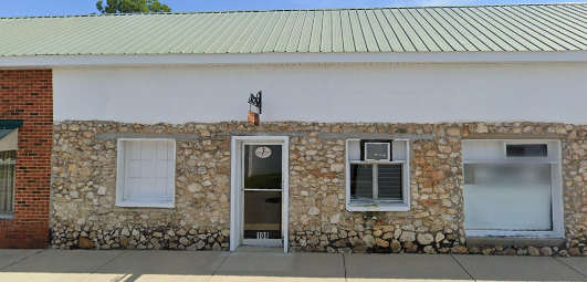
[[[244,239],[281,239],[281,192],[244,191]]]

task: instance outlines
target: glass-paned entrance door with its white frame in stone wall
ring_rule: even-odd
[[[289,137],[233,136],[231,154],[230,250],[248,244],[287,252]]]

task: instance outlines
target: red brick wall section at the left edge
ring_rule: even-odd
[[[0,219],[0,249],[49,246],[53,83],[51,70],[0,70],[0,119],[22,119],[14,219]]]

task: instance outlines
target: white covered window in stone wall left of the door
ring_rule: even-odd
[[[172,139],[119,139],[116,206],[172,208]]]

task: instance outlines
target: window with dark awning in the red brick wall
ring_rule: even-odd
[[[21,121],[0,121],[0,218],[14,215],[18,127]]]

